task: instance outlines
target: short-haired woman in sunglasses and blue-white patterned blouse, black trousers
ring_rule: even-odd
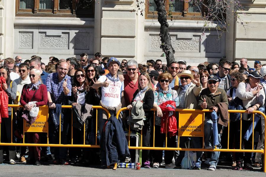
[[[158,81],[160,83],[158,89],[154,91],[154,103],[153,108],[157,110],[157,114],[155,117],[155,147],[163,147],[165,141],[165,133],[160,133],[161,129],[161,117],[163,116],[163,112],[159,105],[166,101],[174,101],[176,102],[176,107],[179,106],[179,97],[177,95],[176,90],[172,90],[169,86],[169,83],[172,82],[172,75],[170,73],[161,73],[158,77]],[[167,134],[167,147],[176,147],[176,136],[169,136]],[[174,151],[165,151],[164,160],[166,164],[166,168],[175,168],[175,165],[172,164],[173,153]],[[159,168],[160,163],[163,160],[163,151],[156,150],[154,151],[154,163],[153,168]]]

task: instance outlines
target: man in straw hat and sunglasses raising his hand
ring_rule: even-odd
[[[194,74],[192,75],[191,71],[183,70],[182,73],[177,74],[180,78],[181,85],[177,90],[177,94],[179,96],[179,109],[198,109],[197,98],[202,91],[202,85],[200,83],[200,75]],[[180,137],[180,147],[185,148],[186,137]],[[193,148],[201,148],[200,138],[199,137],[191,137],[192,143],[194,145]],[[201,154],[202,152],[197,151],[197,161],[194,169],[200,170],[201,166]],[[185,155],[185,151],[179,152],[179,157],[176,159],[176,165],[180,166],[181,161]]]

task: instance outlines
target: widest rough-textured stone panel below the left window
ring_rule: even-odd
[[[39,32],[39,48],[69,48],[69,33],[62,36],[47,36],[46,32]]]

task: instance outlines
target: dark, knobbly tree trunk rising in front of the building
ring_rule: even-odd
[[[174,53],[175,50],[171,44],[170,33],[168,32],[168,22],[166,18],[166,10],[165,10],[165,2],[164,0],[154,0],[157,11],[158,11],[158,22],[161,24],[160,27],[160,38],[161,45],[160,47],[163,49],[163,52],[166,54],[167,66],[170,65],[171,62],[175,60]]]

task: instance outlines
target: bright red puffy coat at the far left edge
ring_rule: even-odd
[[[2,122],[1,118],[8,118],[8,96],[2,83],[6,84],[6,79],[3,76],[0,77],[0,123]]]

